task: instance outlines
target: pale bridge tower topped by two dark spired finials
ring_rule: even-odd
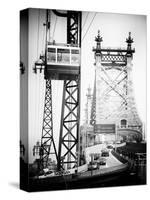
[[[94,133],[105,136],[106,140],[114,140],[116,131],[124,137],[132,135],[132,139],[141,139],[142,122],[133,94],[132,59],[135,49],[132,48],[131,33],[126,39],[127,48],[102,47],[100,31],[95,41],[95,84],[91,109]]]

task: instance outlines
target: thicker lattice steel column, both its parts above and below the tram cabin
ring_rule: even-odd
[[[67,12],[67,44],[81,47],[81,12]],[[79,163],[79,100],[80,71],[75,80],[64,81],[58,170],[72,168]]]

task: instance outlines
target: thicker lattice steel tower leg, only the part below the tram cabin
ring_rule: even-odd
[[[77,165],[79,139],[79,80],[65,81],[58,151],[58,169]],[[67,166],[66,166],[67,165]]]

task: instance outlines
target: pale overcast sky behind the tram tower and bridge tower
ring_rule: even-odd
[[[89,24],[95,16],[87,34]],[[85,18],[87,17],[86,23]],[[38,20],[39,19],[39,20]],[[42,135],[42,118],[44,110],[45,80],[43,74],[34,74],[33,66],[42,50],[44,50],[45,30],[44,10],[32,10],[29,25],[29,155],[33,161],[33,145]],[[51,15],[51,40],[56,43],[66,43],[65,18]],[[39,22],[39,23],[38,23]],[[83,26],[84,24],[84,26]],[[55,31],[54,31],[55,26]],[[87,88],[93,89],[94,84],[94,53],[95,36],[98,29],[103,37],[104,47],[126,47],[125,40],[129,31],[134,39],[133,47],[133,84],[138,113],[142,121],[146,121],[146,17],[141,15],[109,14],[109,13],[82,13],[82,57],[81,57],[81,124],[84,119]],[[39,31],[38,31],[39,30]],[[52,81],[53,89],[53,124],[54,139],[58,145],[62,81]]]

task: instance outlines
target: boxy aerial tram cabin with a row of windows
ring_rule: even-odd
[[[77,45],[47,45],[46,79],[74,80],[80,73],[80,48]]]

